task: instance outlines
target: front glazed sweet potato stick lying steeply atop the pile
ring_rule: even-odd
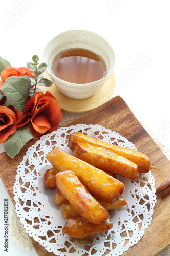
[[[89,193],[74,172],[66,170],[57,173],[56,184],[62,195],[87,222],[97,224],[109,218],[108,211]]]

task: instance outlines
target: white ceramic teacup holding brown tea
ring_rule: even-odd
[[[51,70],[54,58],[59,53],[73,48],[84,48],[98,54],[105,62],[106,75],[97,81],[81,84],[64,81],[55,76]],[[58,34],[48,42],[43,51],[42,61],[47,63],[47,72],[61,93],[69,98],[84,99],[99,91],[112,74],[115,53],[110,44],[100,35],[87,30],[70,30]]]

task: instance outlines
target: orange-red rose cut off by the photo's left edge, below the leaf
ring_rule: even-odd
[[[16,120],[21,117],[21,112],[13,106],[0,106],[0,143],[4,143],[17,129]]]

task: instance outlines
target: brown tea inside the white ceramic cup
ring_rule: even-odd
[[[78,84],[94,82],[106,75],[104,60],[83,48],[73,48],[58,54],[52,62],[51,70],[56,77]]]

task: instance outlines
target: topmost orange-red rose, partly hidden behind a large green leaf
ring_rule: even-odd
[[[25,67],[14,68],[12,66],[9,66],[1,72],[0,88],[3,85],[3,83],[5,82],[5,80],[10,76],[18,76],[19,77],[19,76],[25,76],[26,75],[26,76],[33,77],[32,74],[35,74],[34,71],[31,71],[28,68],[25,68]],[[34,87],[34,86],[32,86],[32,87]]]

